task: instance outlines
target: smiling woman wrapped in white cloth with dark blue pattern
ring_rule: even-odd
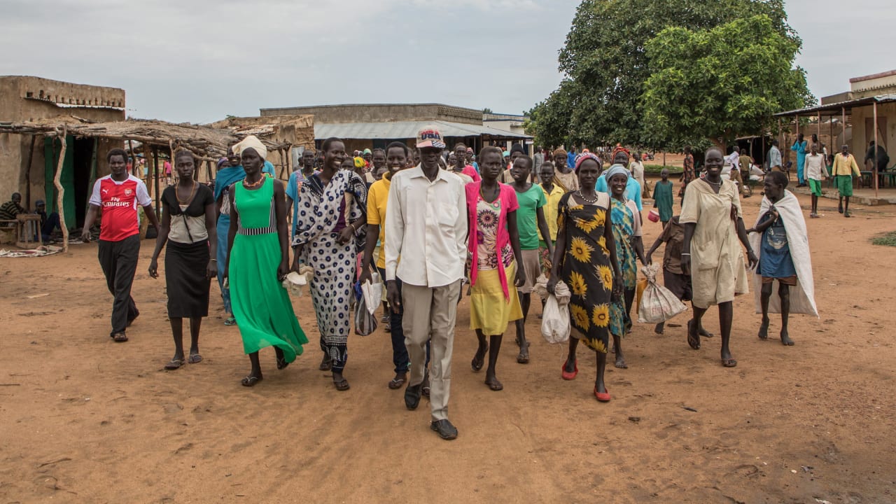
[[[298,194],[292,242],[293,270],[300,261],[314,269],[310,290],[321,334],[321,369],[332,369],[337,390],[349,389],[342,376],[349,356],[349,300],[367,221],[366,185],[354,171],[340,169],[346,157],[339,138],[323,142],[323,169],[307,178]]]

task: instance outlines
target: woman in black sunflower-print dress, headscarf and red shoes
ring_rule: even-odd
[[[610,335],[610,303],[614,298],[621,299],[622,274],[616,261],[610,198],[594,189],[599,160],[593,154],[583,154],[576,160],[575,170],[581,188],[560,199],[556,248],[547,291],[553,293],[556,283],[562,279],[572,293],[569,310],[573,337],[569,339],[563,378],[571,380],[578,374],[575,351],[582,340],[597,352],[594,395],[599,401],[607,402],[610,395],[604,383],[604,370]]]

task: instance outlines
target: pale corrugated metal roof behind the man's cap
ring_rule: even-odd
[[[434,125],[443,136],[491,135],[501,138],[531,138],[488,126],[466,125],[448,121],[398,121],[393,123],[343,123],[334,125],[314,125],[314,139],[323,140],[335,136],[351,139],[414,138],[424,126]]]

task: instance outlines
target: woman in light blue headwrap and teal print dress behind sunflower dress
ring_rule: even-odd
[[[607,185],[610,189],[610,218],[613,222],[613,238],[616,242],[616,258],[622,273],[623,298],[610,304],[610,334],[616,349],[616,368],[625,369],[622,353],[622,337],[632,328],[632,303],[638,284],[638,264],[644,264],[644,245],[641,238],[641,214],[633,200],[625,197],[629,172],[615,164],[607,169]],[[625,303],[625,304],[624,304]]]

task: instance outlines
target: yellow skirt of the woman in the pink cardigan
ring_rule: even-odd
[[[513,281],[516,279],[516,261],[504,268],[510,300],[504,298],[498,270],[480,270],[476,285],[470,291],[470,329],[481,329],[484,335],[503,335],[507,324],[522,318],[520,298]]]

